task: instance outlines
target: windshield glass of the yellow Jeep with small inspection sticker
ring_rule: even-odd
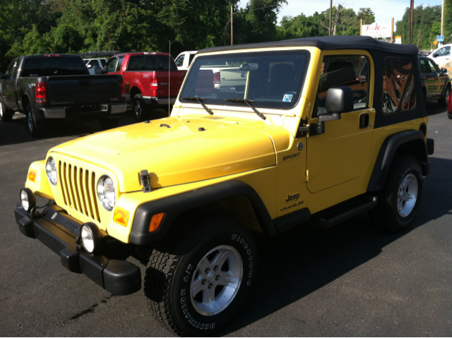
[[[297,104],[309,65],[309,52],[251,52],[199,56],[191,66],[179,99],[201,97],[205,104],[290,109]]]

